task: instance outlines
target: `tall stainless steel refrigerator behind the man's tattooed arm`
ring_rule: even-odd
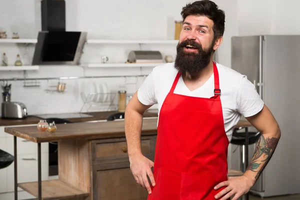
[[[300,193],[300,35],[233,36],[231,68],[256,86],[281,129],[251,192],[262,197]]]

